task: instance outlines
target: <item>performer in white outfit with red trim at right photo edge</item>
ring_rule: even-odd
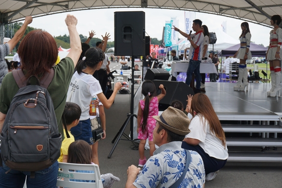
[[[270,44],[266,52],[266,60],[269,61],[271,89],[267,92],[267,96],[280,96],[281,93],[281,67],[280,67],[280,52],[282,45],[282,28],[278,25],[281,23],[281,17],[274,15],[271,17],[270,24],[274,29],[270,31]]]

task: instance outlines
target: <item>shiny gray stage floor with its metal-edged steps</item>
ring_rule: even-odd
[[[270,83],[249,83],[247,92],[233,91],[235,85],[205,83],[226,135],[228,161],[282,162],[282,98],[267,96]]]

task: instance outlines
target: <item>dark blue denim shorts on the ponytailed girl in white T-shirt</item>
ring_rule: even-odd
[[[71,128],[71,134],[73,135],[75,141],[84,140],[89,143],[89,145],[94,144],[90,118],[79,121],[76,126]]]

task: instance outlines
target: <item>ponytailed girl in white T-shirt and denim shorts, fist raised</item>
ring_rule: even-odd
[[[78,104],[81,108],[79,123],[71,128],[71,134],[75,140],[87,141],[91,147],[94,144],[91,132],[91,122],[89,116],[89,104],[92,98],[97,95],[106,109],[109,109],[121,89],[121,83],[117,82],[114,92],[109,99],[103,94],[99,81],[92,75],[99,70],[105,58],[104,52],[97,47],[91,47],[85,52],[85,56],[77,63],[76,70],[71,78],[68,90],[67,101]],[[96,105],[98,105],[96,100]],[[97,148],[97,147],[92,147]],[[98,163],[97,163],[98,164]]]

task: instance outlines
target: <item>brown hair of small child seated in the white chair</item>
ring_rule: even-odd
[[[91,159],[92,149],[86,141],[77,140],[70,144],[67,163],[91,164]]]

